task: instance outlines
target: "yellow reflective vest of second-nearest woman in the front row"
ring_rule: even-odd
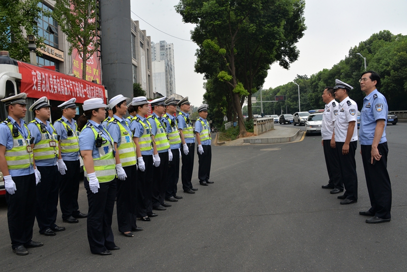
[[[131,132],[119,122],[119,120],[112,118],[109,123],[117,124],[120,129],[120,146],[118,147],[120,163],[123,167],[132,166],[136,164],[136,145],[133,141]],[[111,124],[110,124],[111,125]]]

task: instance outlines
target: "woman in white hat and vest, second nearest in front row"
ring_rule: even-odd
[[[126,237],[133,237],[131,231],[141,231],[136,224],[136,198],[137,198],[137,159],[136,146],[133,134],[127,126],[123,115],[127,111],[130,98],[119,94],[109,100],[109,107],[113,117],[107,123],[107,131],[114,142],[117,181],[117,212],[119,231]]]

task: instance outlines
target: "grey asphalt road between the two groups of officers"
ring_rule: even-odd
[[[215,183],[198,185],[196,156],[193,183],[199,191],[187,195],[179,185],[184,199],[151,222],[139,222],[144,231],[133,238],[119,235],[114,212],[112,227],[121,250],[111,256],[92,255],[86,220],[65,224],[61,213],[57,224],[66,231],[45,237],[35,224],[33,240],[44,247],[16,256],[3,202],[0,270],[406,271],[406,132],[407,123],[387,128],[390,223],[366,224],[358,214],[370,207],[359,153],[358,203],[339,205],[337,195],[321,188],[328,175],[320,135],[297,143],[213,146]],[[82,183],[79,205],[86,212]]]

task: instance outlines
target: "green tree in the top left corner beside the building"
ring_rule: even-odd
[[[9,51],[13,59],[30,62],[26,35],[36,36],[37,45],[41,45],[44,40],[38,37],[35,21],[42,11],[38,3],[40,0],[0,1],[0,49]],[[40,51],[37,50],[37,53],[40,54]]]

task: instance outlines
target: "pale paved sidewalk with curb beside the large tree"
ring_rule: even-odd
[[[260,134],[258,136],[252,136],[234,141],[220,142],[218,145],[225,146],[241,146],[241,145],[253,145],[253,144],[277,144],[299,141],[303,135],[301,129],[293,127],[274,127],[273,130]],[[217,141],[216,137],[216,141]]]

